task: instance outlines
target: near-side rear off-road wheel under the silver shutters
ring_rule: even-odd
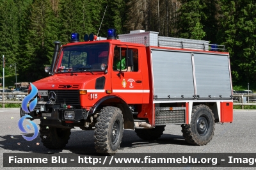
[[[181,125],[183,137],[189,144],[205,145],[214,135],[214,114],[207,105],[195,105],[192,108],[191,123]]]

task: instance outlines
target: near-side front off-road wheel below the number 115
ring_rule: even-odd
[[[122,111],[113,106],[101,109],[95,124],[94,145],[97,153],[113,155],[122,142],[124,132]]]

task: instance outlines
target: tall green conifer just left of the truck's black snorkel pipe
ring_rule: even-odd
[[[52,43],[57,40],[54,12],[50,1],[36,0],[27,11],[28,20],[24,22],[24,49],[21,52],[23,69],[20,71],[24,79],[35,81],[47,74],[44,66],[51,65],[53,53]]]

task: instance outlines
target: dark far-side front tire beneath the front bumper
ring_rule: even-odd
[[[68,143],[70,128],[56,128],[40,125],[41,141],[46,148],[59,150],[64,148]]]

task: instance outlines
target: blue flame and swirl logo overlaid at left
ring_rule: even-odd
[[[31,92],[29,93],[28,96],[26,96],[26,97],[24,98],[24,100],[22,101],[22,104],[21,104],[22,110],[23,110],[24,112],[28,112],[28,113],[31,112],[31,111],[33,111],[33,109],[35,109],[35,107],[36,107],[37,98],[35,98],[33,101],[30,102],[29,108],[28,108],[28,103],[29,103],[29,101],[30,101],[31,99],[33,99],[33,98],[36,96],[37,91],[38,91],[37,88],[36,88],[32,83],[30,83],[30,86],[31,86]],[[27,132],[27,131],[24,129],[24,127],[23,127],[23,122],[24,122],[24,120],[25,120],[26,118],[32,118],[32,117],[29,116],[29,115],[22,116],[22,117],[20,118],[19,122],[18,122],[18,126],[19,126],[21,132],[24,132],[24,133],[28,134],[28,132]],[[31,123],[31,125],[32,125],[33,128],[34,128],[34,134],[33,134],[32,137],[27,137],[27,136],[25,136],[25,135],[22,135],[22,137],[23,137],[24,139],[26,139],[27,141],[32,141],[32,140],[34,140],[34,139],[37,137],[37,135],[38,135],[38,133],[39,133],[39,130],[38,130],[38,127],[37,127],[37,125],[36,125],[35,122],[30,121],[30,120],[28,120],[28,121],[29,121],[29,123]],[[27,127],[29,130],[31,130],[31,127],[30,127],[29,125],[26,125],[26,127]]]

